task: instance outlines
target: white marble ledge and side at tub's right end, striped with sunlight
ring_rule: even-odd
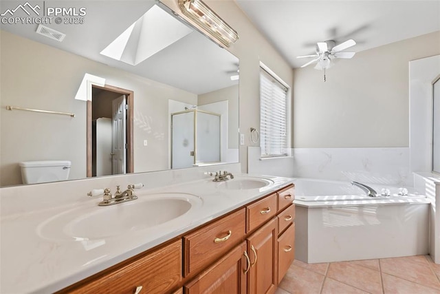
[[[414,187],[430,200],[429,250],[432,260],[440,264],[440,174],[419,172],[414,174]]]

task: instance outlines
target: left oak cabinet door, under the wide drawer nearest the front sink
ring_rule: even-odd
[[[246,242],[236,246],[221,260],[184,286],[186,294],[246,293],[246,271],[250,264],[245,258]]]

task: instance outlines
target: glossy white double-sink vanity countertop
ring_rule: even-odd
[[[248,176],[248,175],[242,175]],[[136,229],[120,235],[96,240],[57,238],[41,233],[42,224],[63,215],[66,211],[91,213],[109,207],[98,207],[102,197],[84,197],[78,202],[56,204],[46,209],[1,216],[1,293],[50,293],[61,290],[85,277],[171,240],[181,233],[222,216],[244,204],[261,198],[293,182],[292,178],[263,176],[274,184],[260,189],[219,189],[212,179],[185,182],[155,189],[136,190],[139,199],[111,207],[142,202],[154,193],[190,193],[199,196],[201,205],[190,209],[177,221],[157,227]],[[31,198],[32,197],[32,198]],[[58,195],[30,196],[31,201]],[[7,211],[7,201],[2,201],[2,211]],[[105,226],[91,223],[90,226]],[[63,227],[63,224],[60,224]],[[60,232],[60,235],[61,232]]]

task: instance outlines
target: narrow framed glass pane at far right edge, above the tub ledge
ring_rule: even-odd
[[[440,76],[432,85],[432,171],[440,173]]]

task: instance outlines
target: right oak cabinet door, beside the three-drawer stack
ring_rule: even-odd
[[[278,244],[277,219],[267,222],[248,240],[251,267],[248,273],[248,293],[274,293],[277,286]]]

